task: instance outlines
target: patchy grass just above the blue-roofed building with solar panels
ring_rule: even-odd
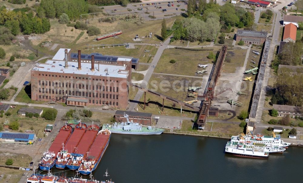
[[[15,109],[8,109],[8,112],[10,112],[11,116],[5,116],[3,118],[0,118],[0,124],[3,124],[5,120],[7,119],[8,122],[17,121],[19,123],[19,129],[18,130],[10,130],[13,132],[24,132],[25,130],[33,129],[36,136],[38,138],[42,138],[44,136],[44,129],[47,124],[53,124],[54,121],[52,120],[45,120],[43,118],[29,118],[25,116],[18,115],[17,112],[20,108],[27,107],[27,106],[21,106],[17,105]]]

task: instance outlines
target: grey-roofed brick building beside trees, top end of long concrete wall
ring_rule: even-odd
[[[244,41],[245,44],[263,44],[266,40],[267,32],[264,31],[247,31],[238,30],[236,34],[236,41]]]

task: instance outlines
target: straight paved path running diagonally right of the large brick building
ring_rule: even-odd
[[[151,64],[149,65],[148,67],[148,71],[143,79],[143,83],[141,84],[141,87],[145,88],[146,87],[146,84],[148,83],[149,79],[151,78],[151,74],[153,73],[154,71],[154,68],[152,66],[156,66],[163,51],[168,47],[168,43],[170,41],[170,37],[168,39],[166,39],[163,43],[162,43],[162,46],[159,46],[158,48],[158,51],[157,53],[155,54],[153,60],[151,61]],[[134,98],[134,101],[139,101],[143,95],[143,91],[141,90],[138,90],[135,98]],[[135,111],[135,109],[137,108],[137,102],[130,102],[130,105],[129,105],[129,111]]]

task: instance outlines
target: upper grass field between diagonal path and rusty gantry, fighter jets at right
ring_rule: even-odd
[[[216,54],[218,47],[214,48],[213,53]],[[210,51],[189,51],[180,49],[165,49],[154,70],[154,73],[178,74],[185,76],[203,76],[197,75],[197,70],[203,70],[198,64],[210,64],[213,59],[208,59]],[[174,64],[170,60],[175,60]],[[186,69],[185,69],[186,66]],[[210,70],[211,68],[208,68]]]

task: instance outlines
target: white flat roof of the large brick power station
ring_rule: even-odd
[[[98,71],[98,65],[95,65],[95,70],[92,71],[91,63],[81,62],[81,70],[78,70],[78,62],[68,62],[68,68],[65,68],[64,66],[65,61],[63,60],[47,60],[45,63],[39,63],[38,66],[34,66],[32,70],[119,78],[127,78],[129,74],[129,72],[126,70],[126,66],[120,65],[99,64],[100,71]]]

